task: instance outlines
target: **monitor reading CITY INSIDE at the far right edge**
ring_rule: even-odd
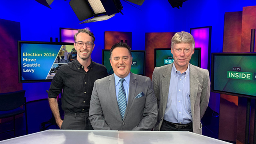
[[[212,53],[211,91],[256,99],[256,53]]]

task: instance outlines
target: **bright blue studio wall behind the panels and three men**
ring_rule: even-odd
[[[256,5],[256,0],[188,0],[182,8],[172,8],[168,0],[145,0],[142,6],[121,0],[124,10],[109,20],[79,24],[69,1],[54,0],[50,8],[35,0],[2,0],[0,18],[20,22],[21,40],[59,40],[59,28],[89,27],[94,33],[92,60],[101,63],[104,32],[132,32],[132,49],[145,50],[146,32],[190,32],[190,28],[212,26],[211,52],[222,52],[225,12],[242,11],[244,6]],[[2,58],[1,58],[2,59]],[[50,82],[24,83],[27,101],[47,98]],[[219,94],[213,95],[209,106],[219,112]]]

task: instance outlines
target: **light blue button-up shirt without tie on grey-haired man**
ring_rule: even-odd
[[[173,64],[164,120],[180,124],[192,122],[189,72],[189,65],[181,74]]]

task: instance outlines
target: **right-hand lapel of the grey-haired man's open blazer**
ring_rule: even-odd
[[[198,92],[198,74],[194,69],[192,64],[190,66],[190,104],[191,104],[191,112],[192,117],[194,116],[194,106],[196,102],[197,92]]]

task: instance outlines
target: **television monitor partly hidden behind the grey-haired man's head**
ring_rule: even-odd
[[[155,48],[155,67],[164,66],[174,62],[171,48]],[[190,63],[194,66],[201,67],[201,48],[195,48]]]

